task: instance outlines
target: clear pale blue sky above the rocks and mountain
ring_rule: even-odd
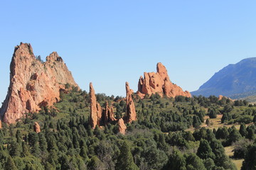
[[[168,69],[195,91],[230,63],[256,57],[256,1],[0,1],[0,101],[14,46],[63,57],[81,89],[124,96],[143,72]]]

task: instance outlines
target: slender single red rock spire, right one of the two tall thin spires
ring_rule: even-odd
[[[132,123],[133,120],[137,119],[134,101],[132,100],[132,93],[133,91],[129,89],[129,84],[126,82],[126,93],[127,93],[127,123]]]

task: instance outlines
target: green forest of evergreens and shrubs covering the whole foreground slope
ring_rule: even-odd
[[[124,98],[97,94],[114,106],[116,118],[126,111]],[[256,107],[215,96],[140,99],[134,94],[137,120],[126,135],[116,123],[93,130],[88,123],[89,94],[63,91],[54,107],[27,113],[0,130],[0,169],[255,169]],[[223,115],[215,127],[215,116]],[[205,121],[209,123],[206,125]],[[33,132],[34,122],[41,132]],[[233,157],[224,147],[234,148]],[[125,167],[124,167],[125,166]]]

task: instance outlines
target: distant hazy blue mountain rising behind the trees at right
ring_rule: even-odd
[[[197,91],[195,96],[237,96],[245,97],[256,93],[256,57],[244,59],[237,64],[229,64],[215,73]],[[247,94],[247,95],[246,95]]]

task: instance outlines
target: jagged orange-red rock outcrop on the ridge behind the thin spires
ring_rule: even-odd
[[[166,67],[161,62],[156,65],[157,72],[144,72],[144,78],[139,78],[137,94],[144,98],[146,94],[158,93],[160,96],[166,95],[167,97],[186,96],[191,97],[188,91],[183,91],[181,87],[171,83],[167,74]]]

